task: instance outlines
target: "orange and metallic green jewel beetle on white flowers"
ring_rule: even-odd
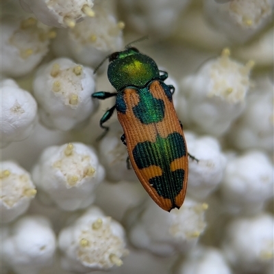
[[[117,111],[129,160],[138,179],[158,206],[166,211],[180,208],[188,182],[188,152],[173,106],[173,85],[151,57],[127,46],[112,53],[108,79],[115,93],[95,92],[100,100],[116,96],[116,103],[100,120],[103,124]]]

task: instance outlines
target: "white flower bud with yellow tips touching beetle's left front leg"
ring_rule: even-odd
[[[69,131],[86,124],[97,108],[93,70],[70,59],[54,59],[39,68],[34,96],[40,104],[40,119],[49,128]]]

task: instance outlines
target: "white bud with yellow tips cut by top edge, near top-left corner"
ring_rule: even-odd
[[[20,0],[26,12],[51,27],[75,27],[85,16],[94,16],[93,0]]]

